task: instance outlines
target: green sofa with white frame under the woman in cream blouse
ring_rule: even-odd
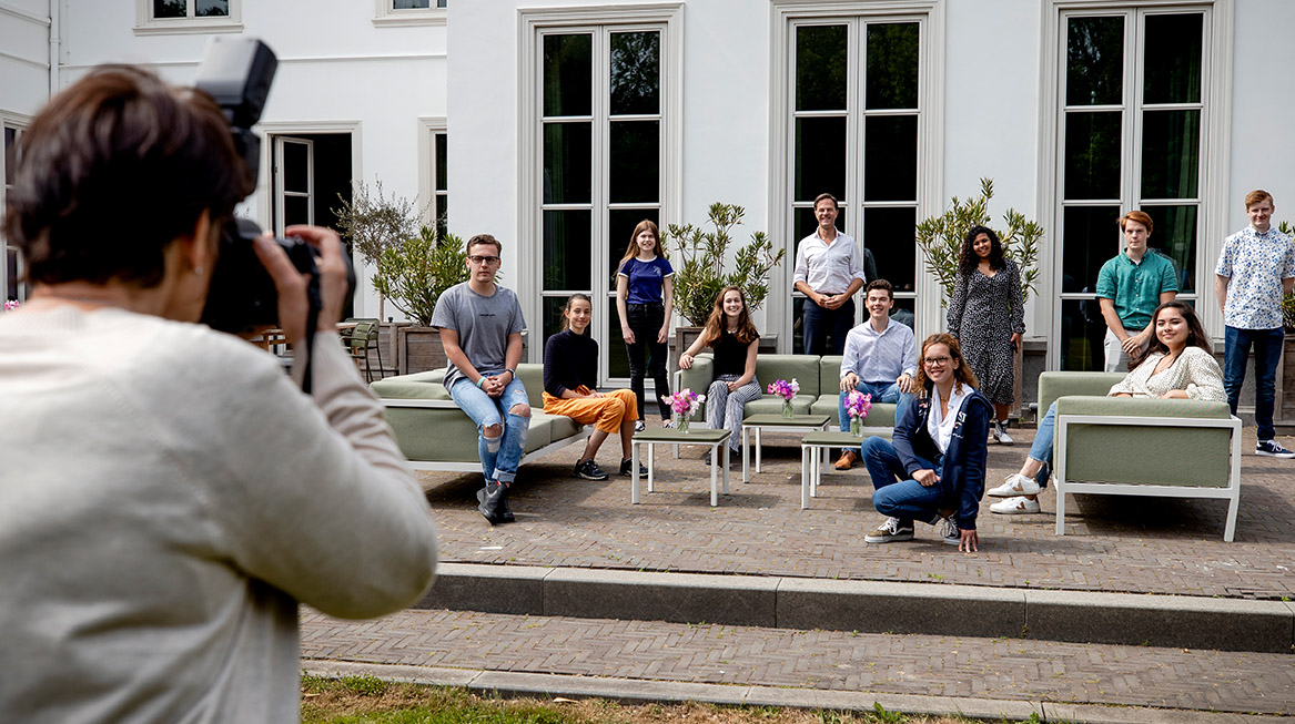
[[[1066,494],[1228,500],[1224,540],[1237,526],[1241,420],[1226,402],[1106,397],[1120,372],[1044,372],[1039,409],[1057,401],[1053,463],[1057,534]]]

